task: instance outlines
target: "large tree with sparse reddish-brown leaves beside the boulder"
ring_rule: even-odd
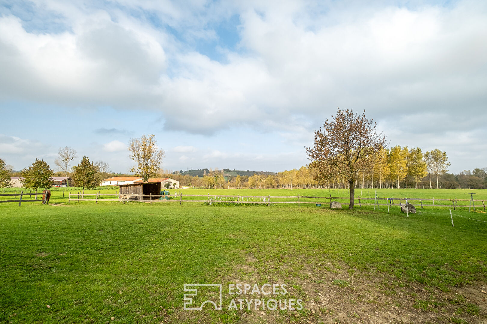
[[[337,116],[332,116],[315,130],[313,147],[306,147],[308,159],[326,176],[337,175],[348,180],[350,185],[349,209],[354,208],[354,188],[356,172],[364,170],[372,163],[371,157],[383,149],[386,137],[377,134],[376,123],[367,119],[365,110],[361,116],[352,110],[338,108]]]

